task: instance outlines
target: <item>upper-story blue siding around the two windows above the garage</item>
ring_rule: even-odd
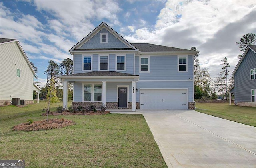
[[[139,72],[139,56],[135,57],[135,75],[140,80],[187,80],[193,79],[193,56],[188,55],[188,72],[178,72],[177,55],[150,56],[150,72]]]

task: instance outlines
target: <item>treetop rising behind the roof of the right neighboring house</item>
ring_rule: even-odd
[[[236,42],[236,44],[240,48],[240,51],[244,51],[248,45],[254,45],[255,43],[256,43],[255,33],[244,34],[240,38],[240,42]],[[242,55],[238,55],[239,59],[241,57],[242,57]]]

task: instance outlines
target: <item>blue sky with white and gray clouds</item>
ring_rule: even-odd
[[[200,51],[200,66],[214,78],[221,59],[230,73],[236,41],[256,33],[255,1],[1,1],[1,38],[18,39],[38,67],[41,87],[48,60],[71,58],[68,50],[101,22],[130,43],[154,43]]]

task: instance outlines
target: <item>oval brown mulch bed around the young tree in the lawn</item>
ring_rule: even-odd
[[[12,127],[12,130],[23,130],[23,131],[38,131],[38,130],[51,130],[56,128],[63,128],[65,126],[75,125],[76,123],[66,119],[49,119],[42,121],[34,121],[32,124],[28,122],[22,123]]]

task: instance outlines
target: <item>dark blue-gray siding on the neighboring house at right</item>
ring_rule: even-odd
[[[256,53],[249,49],[234,75],[235,101],[252,101],[251,91],[256,89],[256,79],[250,79],[250,70],[254,68],[256,68]]]

